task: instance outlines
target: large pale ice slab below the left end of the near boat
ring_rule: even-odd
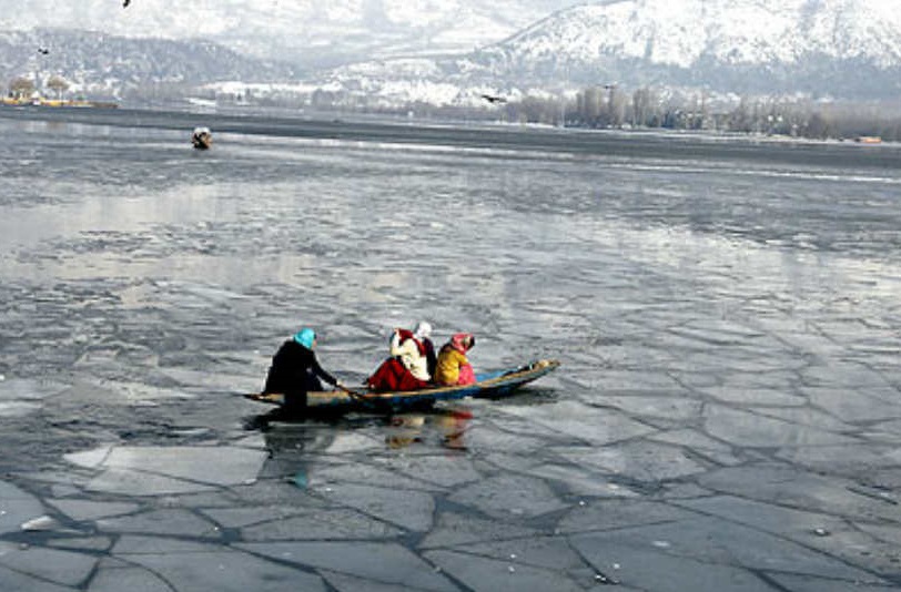
[[[65,455],[102,472],[88,489],[133,496],[207,491],[256,479],[264,450],[243,447],[103,447]]]

